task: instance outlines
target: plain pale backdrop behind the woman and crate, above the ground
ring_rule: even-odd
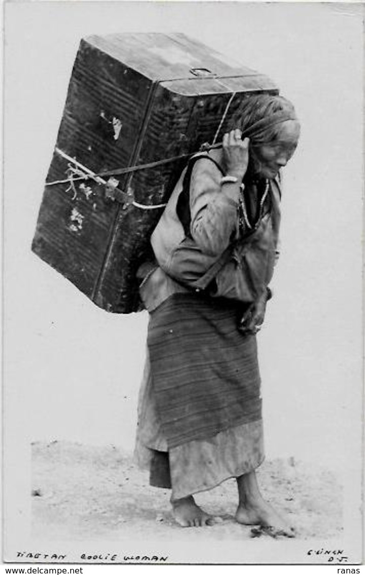
[[[6,6],[5,428],[133,449],[147,315],[98,309],[30,251],[81,37],[180,31],[270,75],[302,123],[259,335],[268,457],[361,465],[362,15],[355,5]]]

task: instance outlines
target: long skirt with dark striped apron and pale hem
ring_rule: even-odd
[[[136,456],[173,499],[264,459],[256,337],[237,329],[240,311],[178,293],[150,315]]]

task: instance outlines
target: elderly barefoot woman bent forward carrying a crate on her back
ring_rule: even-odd
[[[256,332],[278,256],[279,171],[298,144],[293,105],[246,98],[221,149],[190,160],[151,243],[137,455],[171,488],[176,521],[212,524],[193,494],[236,478],[239,523],[293,529],[259,491],[264,459]],[[249,135],[249,137],[247,137]]]

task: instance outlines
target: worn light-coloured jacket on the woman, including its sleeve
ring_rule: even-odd
[[[158,267],[140,287],[145,307],[152,311],[172,293],[189,292],[232,245],[228,262],[207,292],[212,297],[255,301],[271,281],[278,256],[279,182],[270,181],[270,209],[252,231],[239,224],[242,192],[232,190],[233,186],[222,186],[222,172],[212,160],[202,156],[191,173],[190,229],[186,233],[177,210],[184,177],[185,171],[151,236]]]

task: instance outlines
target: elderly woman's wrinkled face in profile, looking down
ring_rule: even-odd
[[[296,120],[283,122],[275,140],[253,148],[252,168],[255,175],[272,179],[278,175],[280,168],[286,166],[297,148],[300,125]]]

